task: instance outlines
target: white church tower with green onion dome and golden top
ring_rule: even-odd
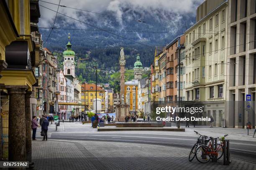
[[[75,77],[75,52],[72,51],[72,44],[70,43],[70,34],[68,36],[69,42],[67,43],[67,50],[63,52],[64,62],[63,62],[63,70],[64,75],[72,75]]]

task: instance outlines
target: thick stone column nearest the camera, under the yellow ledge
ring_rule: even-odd
[[[25,93],[27,86],[8,85],[5,87],[9,94],[8,160],[26,161]]]

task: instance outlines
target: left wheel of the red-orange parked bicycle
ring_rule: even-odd
[[[200,163],[207,163],[211,159],[211,149],[206,145],[200,145],[196,150],[196,158]]]

